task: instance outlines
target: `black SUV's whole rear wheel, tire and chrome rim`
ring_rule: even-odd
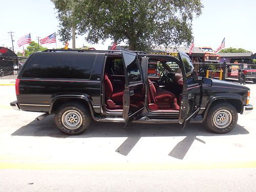
[[[70,102],[60,106],[55,114],[55,124],[67,135],[79,135],[91,124],[91,116],[82,103]]]

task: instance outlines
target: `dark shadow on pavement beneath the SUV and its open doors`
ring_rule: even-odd
[[[90,129],[81,135],[68,136],[61,133],[55,123],[53,116],[48,116],[40,121],[34,120],[29,124],[20,127],[12,136],[37,136],[56,138],[93,138],[93,137],[127,137],[127,139],[116,149],[116,152],[127,156],[140,140],[141,137],[185,137],[177,143],[168,154],[177,159],[183,159],[190,146],[195,140],[205,144],[206,142],[197,136],[229,136],[244,135],[249,132],[237,124],[234,129],[226,134],[214,134],[207,131],[203,123],[190,123],[183,131],[180,131],[179,124],[141,124],[130,123],[125,128],[124,123],[93,122]]]

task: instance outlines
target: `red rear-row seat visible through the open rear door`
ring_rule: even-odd
[[[104,75],[105,101],[109,109],[122,109],[123,91],[113,91],[113,84],[107,74]]]

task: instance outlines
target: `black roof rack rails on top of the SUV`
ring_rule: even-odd
[[[122,50],[81,50],[81,49],[47,49],[42,52],[89,52],[89,53],[120,53]],[[137,54],[147,54],[144,51],[130,51]]]

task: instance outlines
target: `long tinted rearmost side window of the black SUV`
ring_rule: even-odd
[[[89,79],[96,53],[34,54],[24,70],[23,77]]]

